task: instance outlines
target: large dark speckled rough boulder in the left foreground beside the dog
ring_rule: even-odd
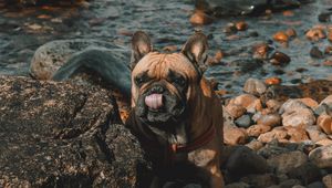
[[[98,87],[0,76],[0,187],[146,187],[149,165]]]

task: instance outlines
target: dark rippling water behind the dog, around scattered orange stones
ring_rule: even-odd
[[[313,45],[324,50],[332,45],[321,40],[312,43],[305,31],[320,23],[318,14],[332,8],[331,0],[317,0],[291,10],[293,17],[282,12],[266,17],[225,17],[212,24],[195,27],[189,23],[194,11],[191,0],[94,0],[89,4],[71,7],[7,8],[0,0],[0,74],[29,75],[30,60],[38,46],[58,39],[98,39],[129,46],[131,34],[136,30],[148,32],[155,48],[184,44],[194,30],[209,35],[210,54],[217,50],[230,53],[220,65],[210,66],[206,75],[219,82],[219,88],[237,92],[248,77],[279,76],[286,84],[310,80],[332,80],[332,66],[323,66],[325,55],[317,60],[309,55]],[[229,40],[222,32],[226,24],[243,20],[249,30],[238,32],[238,40]],[[298,38],[288,48],[272,41],[272,34],[289,28],[295,29]],[[257,32],[258,36],[250,36]],[[253,66],[251,48],[258,42],[271,42],[277,50],[287,53],[291,63],[280,67],[268,61]],[[249,53],[248,53],[249,52]]]

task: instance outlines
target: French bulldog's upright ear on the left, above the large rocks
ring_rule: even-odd
[[[143,31],[135,32],[132,38],[131,69],[133,70],[136,63],[152,50],[149,36]]]

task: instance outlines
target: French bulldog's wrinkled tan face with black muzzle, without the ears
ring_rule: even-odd
[[[132,106],[152,126],[178,123],[185,115],[198,72],[183,53],[146,54],[132,72]]]

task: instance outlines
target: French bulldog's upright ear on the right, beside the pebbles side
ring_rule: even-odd
[[[208,41],[203,32],[196,32],[185,43],[181,52],[194,63],[200,74],[206,70]]]

